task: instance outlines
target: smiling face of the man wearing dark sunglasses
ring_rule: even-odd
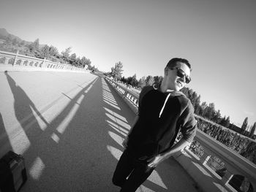
[[[184,88],[186,83],[186,77],[178,77],[178,73],[186,74],[190,77],[190,69],[189,67],[181,62],[177,62],[176,67],[172,69],[167,69],[166,77],[168,82],[168,88],[174,91],[180,91],[181,88]],[[181,75],[180,75],[181,76]]]

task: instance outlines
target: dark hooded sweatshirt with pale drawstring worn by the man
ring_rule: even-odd
[[[195,137],[194,108],[180,91],[162,93],[154,86],[144,87],[138,116],[128,139],[128,149],[138,158],[152,158],[169,150],[179,130],[187,142]]]

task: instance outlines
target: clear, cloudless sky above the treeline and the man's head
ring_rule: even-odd
[[[91,60],[123,76],[162,75],[174,57],[192,64],[200,101],[238,126],[256,122],[256,1],[1,0],[0,28]]]

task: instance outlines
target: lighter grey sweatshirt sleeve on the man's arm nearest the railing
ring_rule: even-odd
[[[194,107],[188,101],[187,107],[180,117],[181,134],[187,142],[191,143],[195,137],[197,121],[194,117]]]

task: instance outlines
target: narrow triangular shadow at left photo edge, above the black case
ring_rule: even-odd
[[[9,150],[12,150],[12,145],[10,143],[10,139],[4,126],[4,120],[0,112],[0,158]]]

